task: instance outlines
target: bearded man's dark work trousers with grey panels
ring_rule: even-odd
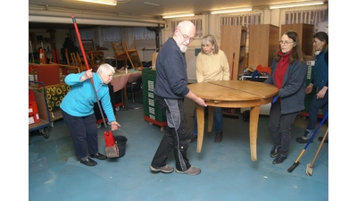
[[[160,96],[155,96],[155,100],[162,109],[162,113],[166,114],[168,125],[151,165],[153,167],[165,166],[168,155],[173,150],[176,169],[187,171],[191,167],[187,159],[187,148],[192,134],[187,125],[184,100],[167,99]]]

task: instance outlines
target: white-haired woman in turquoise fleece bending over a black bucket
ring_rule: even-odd
[[[117,130],[120,127],[120,124],[115,121],[107,85],[111,82],[114,72],[111,65],[104,63],[99,66],[96,72],[92,72],[90,69],[69,74],[64,79],[64,82],[71,86],[71,90],[62,99],[60,105],[62,117],[70,130],[74,151],[79,157],[80,163],[87,166],[95,166],[96,162],[91,158],[99,160],[107,158],[98,152],[98,134],[94,113],[95,93],[101,101],[112,130]],[[93,79],[93,83],[90,79]],[[88,157],[88,152],[91,158]]]

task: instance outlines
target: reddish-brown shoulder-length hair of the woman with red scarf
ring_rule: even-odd
[[[305,63],[305,55],[303,54],[303,50],[300,46],[300,40],[297,36],[297,33],[294,30],[286,30],[282,35],[286,35],[288,38],[293,39],[295,42],[295,46],[293,46],[293,52],[289,55],[289,63],[293,63],[296,60],[300,61],[301,63]],[[281,46],[279,46],[278,53],[281,51]],[[281,56],[277,54],[275,56],[275,61],[279,61]]]

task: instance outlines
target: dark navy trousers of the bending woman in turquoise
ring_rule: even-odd
[[[79,158],[98,153],[98,132],[95,114],[85,117],[72,116],[62,111],[63,120],[70,130],[74,151]]]

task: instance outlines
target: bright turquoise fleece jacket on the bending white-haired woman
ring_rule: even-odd
[[[64,82],[68,86],[71,86],[71,90],[63,97],[60,107],[64,112],[72,116],[84,117],[94,113],[96,98],[92,83],[89,79],[83,82],[79,81],[84,73],[85,71],[72,73],[64,79]],[[95,72],[93,73],[93,83],[108,121],[115,121],[108,86],[102,82],[99,75]]]

